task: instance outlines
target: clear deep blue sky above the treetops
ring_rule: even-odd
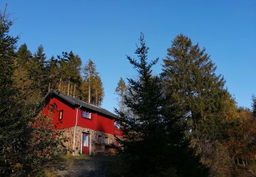
[[[48,57],[72,50],[92,59],[104,84],[102,107],[116,107],[120,77],[136,78],[126,60],[141,32],[149,59],[165,58],[179,33],[205,46],[238,106],[251,108],[256,94],[256,1],[1,1],[12,13],[13,35],[31,52],[40,44]],[[161,71],[162,61],[154,67]]]

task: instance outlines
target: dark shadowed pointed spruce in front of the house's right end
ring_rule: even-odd
[[[139,79],[128,78],[124,103],[127,112],[117,110],[123,138],[122,157],[128,176],[201,176],[199,159],[193,156],[184,141],[184,127],[173,123],[171,114],[163,109],[165,98],[162,82],[153,76],[152,66],[158,59],[147,61],[147,46],[143,34],[135,50],[138,60],[127,57],[137,69]],[[206,170],[207,172],[207,170]]]

